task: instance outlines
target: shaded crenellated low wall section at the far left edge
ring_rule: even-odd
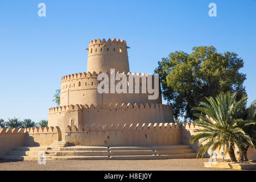
[[[24,129],[0,129],[0,156],[12,150],[14,147],[23,146],[25,144],[26,134]]]

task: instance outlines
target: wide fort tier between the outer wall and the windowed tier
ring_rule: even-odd
[[[92,125],[93,123],[170,123],[174,122],[170,105],[162,104],[110,104],[110,105],[71,105],[49,109],[48,126]],[[64,134],[62,133],[62,137]]]

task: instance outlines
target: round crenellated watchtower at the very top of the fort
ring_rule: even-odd
[[[129,61],[125,40],[92,40],[89,43],[87,72],[129,72]]]

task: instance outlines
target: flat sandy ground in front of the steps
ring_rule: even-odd
[[[67,170],[67,171],[216,171],[233,170],[205,168],[208,159],[163,159],[163,160],[47,160],[45,165],[37,161],[0,159],[0,170]]]

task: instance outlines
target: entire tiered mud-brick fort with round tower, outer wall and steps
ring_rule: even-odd
[[[87,72],[61,78],[60,106],[49,109],[48,127],[1,129],[0,158],[38,160],[42,152],[47,160],[195,158],[197,145],[189,138],[197,126],[174,123],[172,106],[162,104],[155,77],[130,72],[128,48],[125,40],[91,41]],[[127,81],[126,93],[99,93],[98,75],[106,73],[111,82],[112,69],[146,77],[158,86],[158,98],[149,100],[151,93],[142,92],[143,79]],[[248,158],[255,158],[253,150]]]

